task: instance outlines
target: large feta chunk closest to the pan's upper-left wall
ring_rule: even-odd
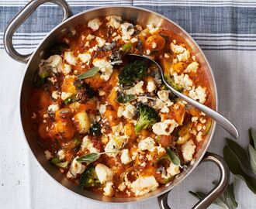
[[[47,60],[41,60],[39,64],[39,74],[45,70],[45,67],[50,67],[54,74],[62,71],[62,58],[60,55],[52,55]]]

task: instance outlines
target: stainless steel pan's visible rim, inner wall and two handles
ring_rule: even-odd
[[[24,22],[29,17],[29,15],[31,15],[35,11],[35,9],[39,5],[42,5],[45,2],[52,2],[61,7],[64,13],[63,22],[61,22],[61,24],[56,26],[50,33],[48,33],[48,35],[43,39],[40,45],[37,46],[36,50],[32,54],[24,55],[18,53],[12,45],[13,33],[22,24],[22,22]],[[215,109],[217,109],[216,83],[213,76],[213,70],[209,66],[206,57],[202,53],[202,50],[200,50],[199,46],[195,43],[192,37],[189,36],[189,34],[186,33],[184,29],[175,24],[175,22],[172,22],[170,19],[167,19],[163,15],[159,15],[155,12],[131,6],[108,6],[99,9],[90,9],[85,12],[81,12],[78,15],[72,16],[70,7],[67,5],[67,2],[64,2],[63,0],[33,0],[29,2],[19,12],[19,14],[16,15],[14,19],[12,19],[12,21],[9,23],[9,26],[7,26],[4,34],[5,50],[7,53],[9,53],[9,56],[19,62],[27,63],[26,72],[23,77],[20,91],[20,118],[24,130],[24,135],[30,149],[32,150],[37,161],[40,163],[41,166],[43,166],[43,169],[50,174],[50,176],[52,176],[55,180],[57,180],[57,182],[61,183],[67,189],[74,191],[74,193],[76,194],[80,194],[81,196],[87,197],[90,200],[96,200],[109,204],[131,204],[141,200],[148,200],[150,198],[157,197],[159,206],[162,209],[170,208],[168,207],[167,200],[168,193],[173,189],[173,187],[178,185],[178,183],[181,183],[181,181],[184,180],[186,176],[189,176],[189,173],[191,173],[192,170],[194,170],[195,167],[199,165],[199,163],[212,162],[215,163],[220,170],[220,181],[218,185],[213,188],[213,190],[211,190],[203,200],[200,200],[192,208],[208,207],[210,204],[213,203],[214,200],[216,200],[217,197],[220,196],[220,194],[223,193],[223,190],[226,189],[227,183],[230,179],[230,171],[228,170],[227,164],[224,162],[223,158],[214,153],[206,152],[209,143],[213,138],[213,132],[216,126],[215,122],[213,122],[209,134],[207,135],[206,140],[202,145],[202,148],[197,154],[195,163],[193,163],[192,166],[189,166],[189,168],[185,170],[180,176],[175,178],[173,183],[171,183],[170,185],[154,190],[154,192],[144,195],[143,197],[112,198],[104,197],[102,195],[95,194],[86,190],[82,191],[78,188],[77,185],[67,180],[64,175],[59,172],[56,166],[48,163],[47,159],[45,158],[43,154],[43,149],[36,142],[36,137],[38,137],[37,131],[35,130],[34,125],[31,124],[31,115],[29,115],[29,112],[26,108],[26,103],[29,99],[29,90],[33,84],[33,77],[36,73],[38,64],[40,63],[40,59],[44,55],[44,52],[47,51],[47,49],[57,39],[59,39],[64,33],[67,33],[67,31],[70,30],[73,26],[76,26],[81,22],[87,22],[89,19],[93,19],[100,15],[121,15],[124,19],[130,19],[133,22],[138,22],[142,26],[145,26],[148,23],[153,23],[155,26],[161,26],[171,29],[178,35],[182,36],[189,43],[189,45],[192,46],[192,50],[194,50],[196,57],[199,58],[202,67],[204,68],[204,70],[206,70],[206,73],[209,77],[210,88],[213,92],[213,106]]]

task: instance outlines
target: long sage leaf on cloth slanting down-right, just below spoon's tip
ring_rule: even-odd
[[[231,149],[231,152],[237,156],[237,160],[240,163],[241,169],[249,176],[256,177],[251,170],[250,160],[248,159],[246,150],[241,147],[237,142],[231,139],[227,140],[227,146]]]

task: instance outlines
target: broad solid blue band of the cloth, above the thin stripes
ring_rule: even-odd
[[[74,14],[92,7],[73,7]],[[143,6],[167,16],[189,33],[256,33],[256,9],[238,7]],[[20,11],[20,7],[0,8],[0,32]],[[57,14],[57,15],[54,15]],[[18,32],[47,33],[61,22],[61,9],[40,7]],[[40,22],[40,24],[38,24]]]

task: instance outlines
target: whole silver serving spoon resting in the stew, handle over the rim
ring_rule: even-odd
[[[131,54],[131,53],[126,54],[126,57],[133,58],[133,60],[147,60],[147,62],[149,61],[151,63],[154,63],[157,66],[157,68],[161,74],[162,81],[164,82],[166,87],[168,87],[168,90],[170,90],[173,94],[178,96],[178,98],[182,98],[182,100],[188,102],[190,105],[194,106],[195,108],[198,108],[200,111],[204,112],[210,118],[213,118],[213,120],[215,120],[223,128],[225,128],[227,130],[227,132],[230,133],[230,135],[232,135],[232,136],[234,136],[234,138],[238,139],[239,133],[237,131],[237,128],[230,121],[228,121],[227,118],[224,118],[223,115],[220,115],[220,113],[214,111],[211,108],[208,108],[206,105],[202,105],[198,101],[195,101],[192,98],[189,98],[185,94],[182,94],[181,92],[176,91],[173,87],[171,87],[171,85],[168,84],[167,81],[165,81],[164,72],[163,72],[162,68],[160,67],[160,65],[156,61],[151,60],[149,57],[146,57],[143,55]]]

